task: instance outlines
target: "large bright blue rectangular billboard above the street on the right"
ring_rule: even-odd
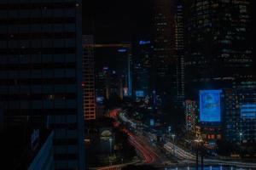
[[[200,121],[220,122],[220,93],[221,90],[200,91]]]

